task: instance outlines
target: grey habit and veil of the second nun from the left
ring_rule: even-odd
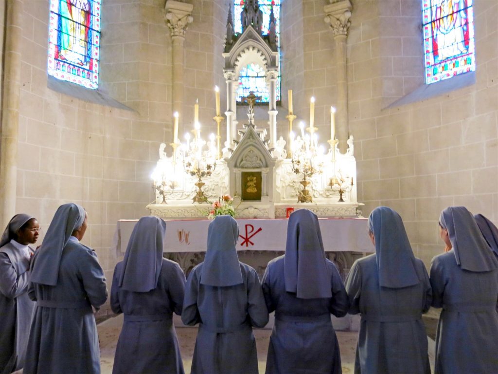
[[[71,233],[85,210],[61,205],[31,261],[28,294],[36,301],[24,374],[98,374],[100,350],[92,306],[106,302],[97,255]]]

